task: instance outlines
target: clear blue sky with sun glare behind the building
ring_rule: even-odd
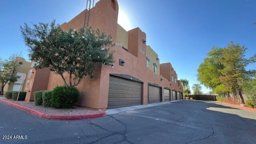
[[[98,1],[98,0],[95,0]],[[20,38],[24,22],[68,22],[84,10],[86,0],[2,0],[0,5],[0,57],[27,48]],[[160,63],[171,62],[178,78],[190,86],[196,69],[212,46],[231,41],[248,48],[246,57],[256,53],[256,0],[118,0],[120,22],[126,29],[140,27],[147,44],[159,55]],[[248,69],[256,69],[250,64]],[[203,92],[208,92],[203,87]]]

